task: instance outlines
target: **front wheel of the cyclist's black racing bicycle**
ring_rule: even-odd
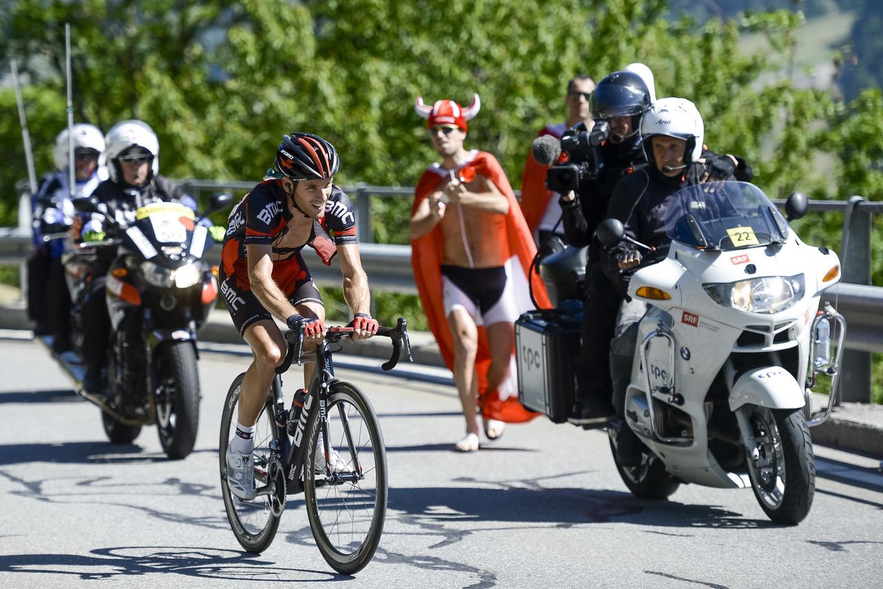
[[[371,562],[380,544],[387,507],[386,448],[374,408],[353,385],[331,385],[325,414],[325,434],[320,437],[320,412],[313,412],[308,428],[306,513],[325,561],[351,575]]]

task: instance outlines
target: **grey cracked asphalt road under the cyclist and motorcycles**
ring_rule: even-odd
[[[293,497],[273,545],[248,555],[224,515],[216,456],[223,396],[245,364],[202,354],[199,439],[172,462],[154,427],[109,444],[98,409],[41,345],[0,339],[0,587],[883,585],[883,475],[872,459],[817,448],[811,514],[780,527],[747,489],[691,485],[640,501],[604,434],[546,419],[457,454],[449,385],[341,367],[372,398],[388,446],[374,562],[336,575]]]

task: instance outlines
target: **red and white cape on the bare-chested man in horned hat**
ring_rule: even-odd
[[[472,161],[464,165],[472,165],[479,175],[489,178],[500,192],[509,199],[509,214],[506,215],[505,229],[501,230],[501,235],[488,236],[488,238],[494,239],[496,243],[499,243],[505,249],[505,259],[512,260],[513,262],[511,264],[513,275],[521,276],[520,283],[517,279],[518,276],[512,276],[512,278],[515,279],[516,296],[519,299],[518,310],[524,312],[528,308],[533,308],[532,303],[530,303],[530,295],[526,292],[526,276],[533,256],[537,253],[537,248],[533,244],[531,232],[527,229],[527,223],[525,223],[525,218],[521,214],[521,209],[518,208],[515,193],[512,192],[509,179],[502,170],[500,163],[496,161],[493,155],[485,152],[473,153],[475,155]],[[411,215],[414,214],[420,203],[433,193],[438,185],[448,177],[448,170],[444,170],[438,165],[430,167],[423,173],[417,188],[414,190],[414,205],[411,208]],[[502,235],[503,232],[505,235]],[[453,370],[454,337],[450,332],[442,301],[442,274],[439,269],[442,265],[442,255],[442,230],[438,226],[426,233],[422,238],[411,241],[411,266],[414,269],[414,281],[417,283],[420,302],[426,313],[426,319],[429,321],[429,328],[432,330],[439,350],[442,352],[442,358],[448,368]],[[517,272],[518,270],[520,270],[520,273]],[[540,306],[551,306],[546,293],[546,287],[542,283],[540,276],[534,274],[532,276],[532,283],[533,295]],[[512,354],[514,358],[514,346]],[[487,335],[485,329],[479,327],[479,350],[475,359],[475,372],[479,377],[479,408],[484,419],[519,422],[533,419],[539,415],[539,413],[527,411],[518,403],[517,374],[515,374],[514,361],[510,363],[509,379],[500,387],[501,390],[504,386],[507,389],[504,393],[506,395],[504,398],[501,398],[502,393],[497,390],[487,390],[488,366],[490,366],[490,357],[487,353]],[[512,396],[513,391],[514,396]]]

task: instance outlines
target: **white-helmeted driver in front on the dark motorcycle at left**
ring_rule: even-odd
[[[87,215],[81,230],[84,241],[100,241],[106,237],[109,225],[106,216],[125,227],[134,221],[137,209],[149,202],[164,200],[194,208],[194,201],[180,186],[159,175],[159,140],[147,123],[134,119],[121,121],[110,128],[105,141],[109,178],[93,193],[102,213]],[[92,294],[83,310],[85,323],[90,327],[84,334],[86,378],[83,387],[89,393],[100,394],[105,389],[102,369],[110,330],[104,289],[107,270],[117,252],[99,248],[97,253],[102,263],[93,276]]]

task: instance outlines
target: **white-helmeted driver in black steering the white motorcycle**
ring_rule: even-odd
[[[671,243],[666,234],[665,219],[668,197],[684,186],[706,181],[710,162],[718,157],[703,151],[705,127],[696,106],[684,98],[662,98],[653,103],[641,120],[643,147],[649,165],[623,177],[614,187],[608,207],[608,218],[623,223],[626,236],[655,248],[653,260],[661,260]],[[734,176],[750,179],[751,167],[733,155]],[[642,261],[638,247],[622,241],[609,247],[604,254],[605,273],[617,291],[628,289],[632,272]],[[610,368],[613,380],[613,405],[619,423],[616,456],[620,464],[637,465],[641,458],[641,442],[624,418],[625,389],[631,376],[632,352],[638,336],[638,321],[646,312],[645,303],[626,296],[616,317],[615,336],[611,343]]]

